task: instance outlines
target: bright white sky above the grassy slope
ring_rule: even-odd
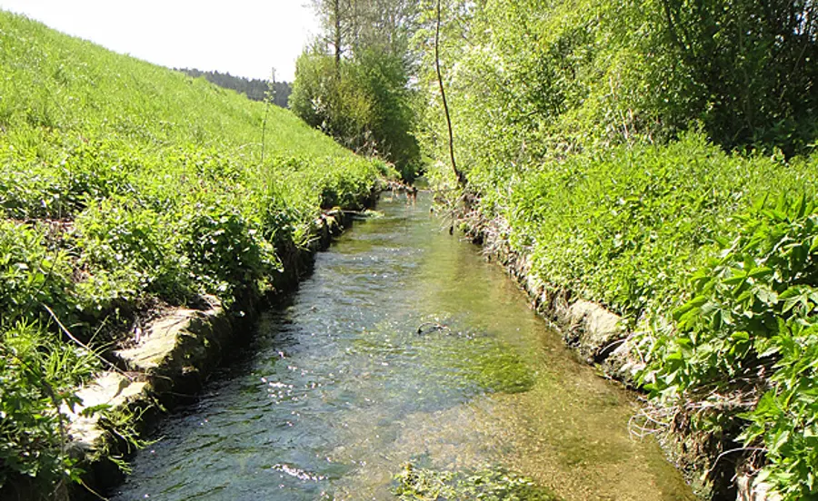
[[[318,32],[309,0],[0,0],[0,9],[175,68],[292,82]]]

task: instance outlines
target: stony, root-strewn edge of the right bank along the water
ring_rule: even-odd
[[[481,245],[490,260],[504,266],[532,301],[532,308],[554,324],[563,339],[588,364],[600,368],[606,378],[639,389],[636,374],[644,362],[635,349],[632,333],[619,315],[604,306],[574,297],[570,290],[555,290],[532,273],[530,256],[512,249],[504,238],[503,222],[486,221],[476,211],[454,213],[458,228]],[[738,464],[718,461],[719,438],[694,434],[685,427],[658,435],[663,450],[678,467],[693,491],[703,499],[721,501],[778,501],[770,486],[753,481]]]

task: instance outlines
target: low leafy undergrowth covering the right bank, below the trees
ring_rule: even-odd
[[[699,437],[676,457],[705,477],[700,494],[725,496],[738,470],[803,499],[818,488],[816,173],[815,156],[730,154],[692,133],[475,169],[469,220],[553,297],[623,317],[649,394],[643,425]]]

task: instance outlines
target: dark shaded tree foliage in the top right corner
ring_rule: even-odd
[[[673,51],[703,89],[708,132],[725,146],[793,153],[815,133],[818,4],[661,0]]]

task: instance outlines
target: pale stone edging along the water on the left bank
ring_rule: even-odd
[[[373,192],[366,206],[376,198]],[[134,452],[138,435],[162,410],[189,401],[218,366],[224,349],[246,338],[262,307],[295,290],[312,268],[314,254],[351,222],[349,211],[324,212],[314,221],[306,248],[290,245],[281,252],[283,270],[273,277],[274,287],[265,297],[241,298],[232,309],[205,297],[201,309],[165,312],[146,326],[135,346],[116,350],[122,369],[100,374],[78,390],[82,405],[63,409],[69,417],[69,447],[85,470],[85,486],[76,487],[71,498],[99,499],[95,492],[120,483],[124,474],[117,463]],[[124,420],[124,428],[111,425],[117,417]]]

